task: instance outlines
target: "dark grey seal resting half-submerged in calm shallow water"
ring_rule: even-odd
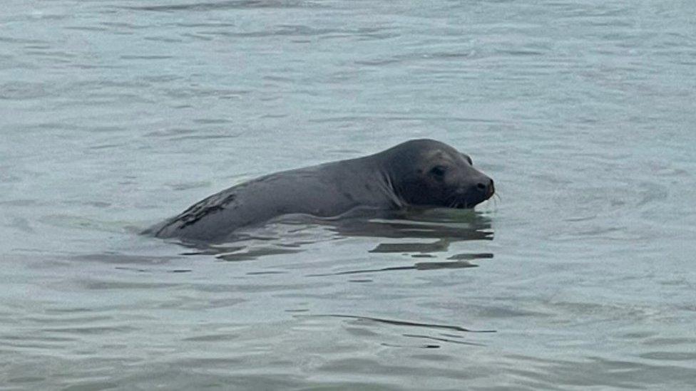
[[[375,155],[277,172],[237,184],[148,233],[221,241],[283,214],[335,217],[352,209],[472,208],[493,195],[493,179],[471,158],[434,140],[411,140]]]

